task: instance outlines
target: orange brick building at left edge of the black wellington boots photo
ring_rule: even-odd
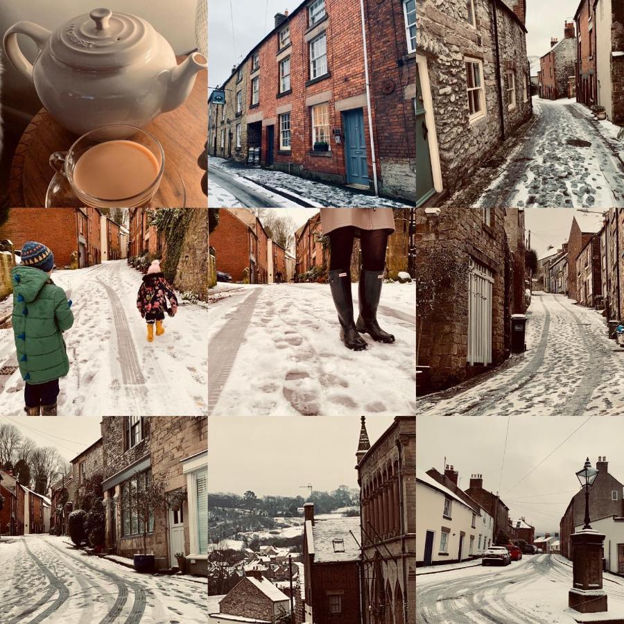
[[[219,211],[219,225],[210,234],[210,245],[216,252],[216,268],[243,281],[243,271],[250,270],[248,225],[227,208]]]

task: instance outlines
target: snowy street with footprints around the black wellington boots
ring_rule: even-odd
[[[229,286],[210,310],[211,414],[413,413],[413,284],[383,285],[379,322],[397,340],[384,345],[365,334],[364,352],[340,342],[327,284]]]

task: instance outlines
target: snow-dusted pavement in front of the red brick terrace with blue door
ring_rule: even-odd
[[[227,171],[230,175],[236,175],[239,178],[244,177],[244,179],[250,182],[266,185],[269,189],[285,191],[291,194],[293,198],[300,198],[308,205],[315,207],[368,208],[386,206],[401,208],[405,206],[405,204],[400,201],[358,193],[348,187],[338,187],[332,184],[324,184],[323,182],[315,182],[314,180],[308,180],[298,175],[291,175],[284,171],[245,167],[238,162],[218,156],[208,157],[208,172],[210,172],[210,169],[213,167]],[[281,198],[281,202],[284,201],[284,198]],[[209,205],[211,204],[209,203]],[[282,204],[280,203],[278,206],[279,205]],[[293,202],[288,202],[288,205],[292,206],[295,204],[293,204]]]

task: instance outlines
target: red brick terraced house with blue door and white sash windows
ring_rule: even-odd
[[[253,163],[259,151],[266,168],[413,201],[415,89],[406,32],[415,24],[407,30],[403,24],[415,21],[415,11],[407,4],[406,15],[401,1],[390,13],[367,1],[365,28],[356,1],[306,0],[290,14],[277,13],[272,31],[224,83],[226,103],[211,100],[211,153],[239,161],[248,155]],[[388,18],[399,21],[381,32]],[[371,37],[368,53],[364,33]],[[368,47],[387,44],[390,64],[400,68],[389,69]],[[381,75],[383,84],[374,85]],[[382,107],[380,128],[374,97]],[[376,137],[379,158],[373,158]]]

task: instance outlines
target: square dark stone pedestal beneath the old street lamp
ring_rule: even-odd
[[[584,529],[570,536],[572,543],[573,585],[568,605],[581,613],[607,611],[607,592],[603,589],[603,541],[605,536]]]

